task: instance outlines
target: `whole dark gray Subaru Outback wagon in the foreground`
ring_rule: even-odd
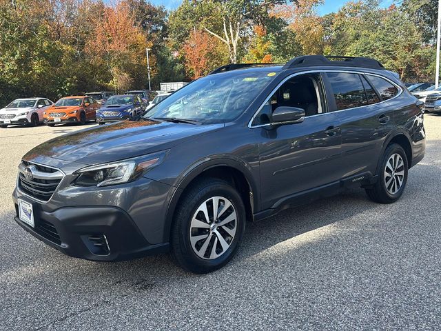
[[[424,157],[421,108],[373,59],[224,66],[137,121],[30,150],[15,219],[72,257],[170,249],[183,268],[209,272],[232,259],[246,221],[344,188],[399,199]]]

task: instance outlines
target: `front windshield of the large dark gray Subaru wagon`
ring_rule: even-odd
[[[145,117],[226,123],[242,114],[274,77],[252,70],[209,75],[177,90]]]

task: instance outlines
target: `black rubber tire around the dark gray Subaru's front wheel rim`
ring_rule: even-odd
[[[229,183],[220,179],[207,178],[192,185],[178,203],[174,214],[171,233],[171,248],[174,261],[185,270],[196,274],[204,274],[217,270],[234,257],[245,231],[245,205],[236,191]],[[232,203],[236,211],[236,234],[230,239],[229,248],[214,259],[199,257],[190,242],[190,227],[196,210],[210,197],[225,197]],[[211,230],[206,230],[207,232]],[[220,232],[220,230],[218,230]],[[212,241],[214,234],[209,234],[211,247],[216,241]],[[205,239],[201,239],[202,241]],[[201,248],[202,250],[202,248]],[[207,248],[211,250],[211,248]],[[216,251],[216,248],[214,249]]]

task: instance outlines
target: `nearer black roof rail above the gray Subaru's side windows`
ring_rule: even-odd
[[[337,61],[335,59],[342,59]],[[283,69],[297,68],[298,66],[347,66],[385,70],[382,64],[369,57],[325,57],[323,55],[304,55],[289,60]]]

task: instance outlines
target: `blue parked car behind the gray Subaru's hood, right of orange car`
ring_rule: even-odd
[[[104,124],[132,119],[144,110],[143,103],[137,95],[114,95],[107,99],[96,112],[96,121],[99,124]]]

